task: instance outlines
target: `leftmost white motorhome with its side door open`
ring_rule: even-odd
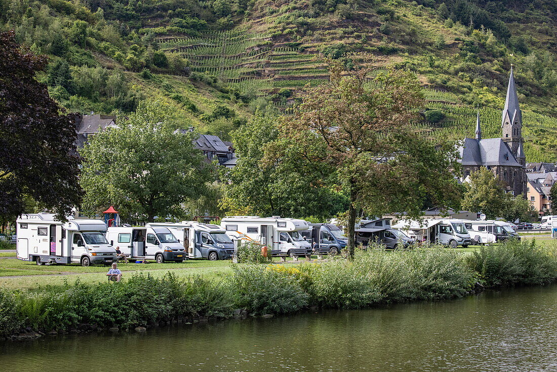
[[[55,219],[53,214],[24,214],[16,221],[17,258],[43,264],[111,264],[116,251],[105,239],[100,220]]]

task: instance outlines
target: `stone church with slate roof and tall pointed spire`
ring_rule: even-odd
[[[501,119],[501,138],[482,138],[480,113],[476,121],[476,138],[465,138],[459,148],[462,181],[481,167],[491,170],[505,190],[513,195],[526,195],[526,156],[522,138],[522,112],[516,94],[511,66],[507,98]]]

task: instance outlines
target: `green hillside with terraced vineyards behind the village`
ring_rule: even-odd
[[[184,127],[225,138],[326,81],[319,54],[415,71],[431,136],[472,136],[477,107],[498,136],[514,64],[528,161],[557,161],[556,17],[550,0],[0,0],[2,28],[52,55],[42,79],[66,107],[125,113],[163,95]]]

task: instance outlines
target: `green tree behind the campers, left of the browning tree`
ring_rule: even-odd
[[[223,177],[231,181],[221,202],[223,209],[230,214],[318,219],[344,210],[345,196],[325,181],[335,176],[329,168],[316,167],[289,151],[272,162],[263,161],[268,152],[289,148],[278,139],[277,119],[256,112],[232,133],[238,162]]]

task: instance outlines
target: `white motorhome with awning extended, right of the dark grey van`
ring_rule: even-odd
[[[472,244],[472,239],[465,222],[468,221],[456,219],[403,220],[393,228],[401,230],[417,241],[444,244],[451,248],[462,245],[466,248]]]

